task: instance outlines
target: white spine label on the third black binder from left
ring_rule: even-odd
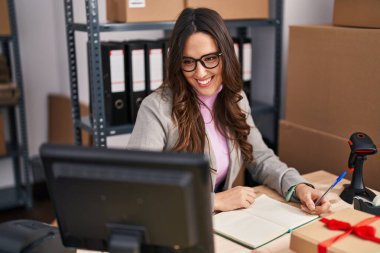
[[[163,79],[162,49],[149,50],[150,90],[157,89]]]

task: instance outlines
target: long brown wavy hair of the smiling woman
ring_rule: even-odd
[[[222,17],[207,8],[186,8],[179,15],[169,40],[167,71],[162,88],[173,94],[172,120],[178,127],[179,138],[173,151],[203,153],[206,142],[205,124],[200,113],[196,91],[186,81],[181,60],[190,35],[202,32],[214,38],[222,53],[223,89],[216,98],[213,116],[218,130],[233,140],[242,152],[245,164],[252,162],[252,145],[247,142],[250,126],[238,102],[243,98],[240,64],[236,58],[233,41]],[[165,92],[164,92],[165,93]]]

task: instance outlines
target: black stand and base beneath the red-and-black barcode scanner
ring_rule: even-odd
[[[340,197],[349,204],[352,204],[355,196],[372,201],[376,194],[364,186],[363,182],[363,163],[367,159],[366,155],[358,155],[355,161],[354,173],[352,175],[351,184],[345,184],[344,190]]]

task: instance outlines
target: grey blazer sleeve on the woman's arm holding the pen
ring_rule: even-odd
[[[247,123],[251,126],[248,142],[253,146],[253,162],[247,169],[253,180],[276,190],[285,197],[291,186],[308,182],[296,169],[289,168],[281,162],[273,150],[264,143],[260,131],[253,122],[248,99],[244,93],[242,95],[241,107],[247,114]]]

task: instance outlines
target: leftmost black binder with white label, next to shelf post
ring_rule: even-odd
[[[121,42],[101,42],[106,125],[128,123],[125,82],[125,51]]]

